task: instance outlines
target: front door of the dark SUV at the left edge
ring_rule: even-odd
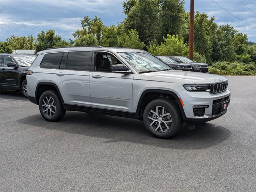
[[[8,63],[15,63],[14,60],[10,56],[4,56],[2,58],[2,66],[0,66],[0,84],[2,87],[19,87],[19,71],[14,69],[14,67],[8,67]]]

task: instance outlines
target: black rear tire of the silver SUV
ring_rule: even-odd
[[[49,101],[49,105],[55,104],[55,108],[53,106],[50,106],[50,108],[49,108],[46,105],[48,102],[47,98],[52,98]],[[54,102],[52,100],[54,100]],[[44,106],[42,106],[42,105],[44,105]],[[62,119],[64,117],[64,115],[66,114],[66,111],[64,110],[64,108],[62,106],[62,102],[60,101],[60,98],[58,96],[58,93],[55,90],[49,90],[49,91],[43,92],[42,95],[40,96],[38,106],[39,106],[39,110],[40,110],[42,117],[47,121],[51,121],[51,122],[58,121],[58,120]],[[45,112],[44,110],[46,110],[46,109],[48,109],[48,110]],[[54,112],[54,114],[53,114],[53,112]]]

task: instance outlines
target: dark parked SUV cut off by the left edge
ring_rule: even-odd
[[[27,97],[26,74],[35,58],[29,54],[0,54],[0,89],[21,90]]]

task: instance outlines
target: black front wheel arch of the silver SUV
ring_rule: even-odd
[[[165,96],[168,95],[171,100],[174,100],[176,102],[176,104],[178,104],[178,107],[182,114],[182,118],[186,119],[186,115],[185,115],[183,106],[180,103],[180,99],[179,99],[178,95],[175,92],[172,92],[170,90],[162,90],[162,89],[148,89],[148,90],[144,90],[144,92],[142,92],[142,94],[140,95],[140,99],[139,99],[137,108],[136,108],[136,114],[138,114],[139,119],[142,120],[144,108],[150,101],[152,101],[156,98],[160,98],[161,96],[164,96],[164,95]]]

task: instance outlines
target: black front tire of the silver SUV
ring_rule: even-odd
[[[154,108],[156,109],[156,107],[158,107],[158,112],[159,112],[159,109],[163,110],[164,108],[164,114],[170,113],[170,116],[169,115],[162,116],[163,118],[162,119],[161,114],[158,114],[160,116],[160,121],[158,121],[159,118],[157,118],[158,116],[155,115],[157,116],[154,118],[156,122],[151,127],[150,124],[153,122],[153,120],[150,120],[149,116],[153,114],[151,110],[154,111]],[[165,126],[164,121],[162,120],[166,120],[166,121],[171,120],[171,122],[167,123],[168,128]],[[174,136],[182,128],[182,124],[183,124],[182,115],[180,113],[180,109],[178,105],[174,101],[166,98],[158,98],[151,101],[144,110],[143,121],[148,132],[150,132],[150,134],[152,134],[154,137],[161,138],[161,139],[168,139]],[[157,127],[159,126],[159,123],[161,125],[161,128],[157,129]],[[157,130],[154,130],[153,127],[156,128]],[[164,130],[164,132],[162,132],[162,130]]]

